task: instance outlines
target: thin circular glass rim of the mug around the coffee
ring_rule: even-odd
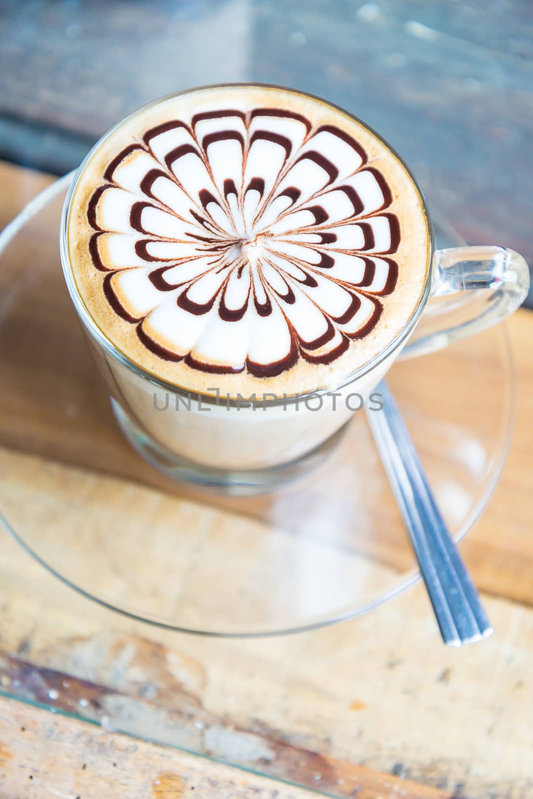
[[[76,280],[73,276],[73,268],[69,258],[69,247],[68,247],[68,227],[69,227],[69,217],[70,212],[72,209],[72,201],[74,193],[77,189],[77,185],[81,179],[81,175],[85,171],[85,167],[89,164],[89,161],[93,158],[93,156],[97,153],[97,151],[101,148],[102,145],[105,144],[105,141],[109,139],[115,133],[117,129],[120,129],[122,125],[125,125],[128,121],[135,119],[141,113],[144,113],[148,109],[153,108],[155,105],[159,105],[168,100],[172,100],[173,97],[180,97],[185,94],[192,94],[199,91],[207,91],[209,89],[225,89],[227,87],[252,87],[252,88],[263,88],[263,89],[277,89],[284,92],[289,92],[293,94],[298,94],[302,97],[310,97],[310,99],[323,103],[324,105],[329,106],[330,108],[334,108],[344,114],[349,119],[356,121],[359,125],[369,131],[374,137],[377,138],[377,141],[380,141],[382,145],[385,146],[385,149],[389,150],[389,153],[393,155],[400,163],[401,167],[405,170],[405,173],[409,177],[409,180],[413,183],[415,190],[417,191],[418,197],[420,199],[420,205],[422,211],[424,213],[425,223],[428,229],[428,264],[427,264],[427,274],[426,280],[424,284],[424,289],[420,294],[420,298],[418,300],[417,306],[414,308],[413,313],[409,317],[409,320],[406,322],[405,326],[401,329],[401,331],[393,338],[392,341],[387,344],[387,346],[382,349],[377,355],[373,356],[370,360],[368,360],[365,364],[362,364],[359,368],[357,368],[354,372],[350,372],[348,376],[346,376],[338,385],[334,387],[328,388],[317,388],[315,390],[310,390],[306,392],[302,392],[299,394],[291,394],[288,396],[278,396],[275,400],[251,400],[250,398],[243,398],[243,399],[233,399],[225,398],[223,400],[224,405],[231,406],[239,406],[243,407],[243,404],[248,402],[254,403],[255,407],[263,407],[265,406],[275,406],[281,404],[290,404],[301,401],[309,396],[326,396],[329,392],[333,392],[338,390],[339,388],[345,388],[349,384],[359,380],[362,376],[365,376],[368,372],[372,372],[373,369],[377,368],[383,361],[388,358],[393,352],[396,352],[398,348],[401,347],[402,344],[405,343],[405,340],[409,338],[410,333],[413,331],[413,328],[417,324],[418,320],[420,320],[420,316],[422,312],[424,312],[424,308],[428,302],[431,288],[432,288],[432,276],[433,276],[433,256],[436,250],[435,246],[435,233],[432,226],[431,217],[428,211],[428,204],[424,197],[424,192],[420,189],[420,185],[418,184],[416,178],[413,176],[411,169],[405,163],[404,159],[397,153],[397,151],[389,145],[389,142],[386,141],[384,137],[381,136],[380,133],[377,133],[370,125],[357,117],[355,114],[346,111],[346,109],[342,108],[341,105],[336,105],[329,100],[326,100],[324,97],[319,97],[317,94],[312,94],[310,92],[300,91],[299,89],[291,89],[287,86],[276,85],[272,83],[261,83],[255,81],[235,81],[229,83],[213,83],[207,85],[199,85],[199,86],[192,86],[189,89],[184,89],[179,92],[172,92],[170,94],[164,95],[164,97],[158,97],[156,100],[152,100],[145,105],[142,105],[140,108],[136,109],[132,113],[128,114],[127,117],[121,119],[113,125],[103,136],[101,136],[98,141],[93,145],[93,147],[89,150],[89,153],[85,156],[83,161],[76,170],[73,170],[73,179],[69,186],[69,191],[66,194],[65,202],[63,204],[63,209],[61,212],[61,229],[60,229],[60,237],[59,237],[59,252],[61,258],[61,267],[63,269],[63,275],[65,277],[65,283],[67,285],[70,299],[73,301],[74,308],[76,309],[77,316],[81,320],[84,325],[84,328],[90,334],[90,336],[99,344],[99,346],[109,355],[112,356],[114,360],[118,361],[122,366],[128,368],[132,372],[135,372],[136,375],[144,378],[149,383],[156,385],[158,388],[164,389],[164,391],[172,392],[173,394],[179,394],[180,396],[185,396],[188,399],[195,399],[199,400],[206,404],[214,404],[219,405],[221,400],[219,396],[213,396],[212,394],[204,394],[203,392],[195,392],[191,389],[184,388],[178,384],[173,384],[169,380],[164,380],[163,378],[155,375],[153,372],[149,372],[148,369],[140,366],[137,364],[135,360],[132,360],[125,352],[122,352],[116,344],[113,344],[113,341],[105,335],[105,333],[98,327],[95,320],[93,320],[93,316],[89,313],[88,308],[85,305],[85,302],[81,299],[81,295],[78,292]],[[253,396],[253,395],[251,395]]]

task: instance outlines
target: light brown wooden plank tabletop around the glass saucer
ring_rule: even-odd
[[[0,226],[50,180],[0,165]],[[420,584],[287,638],[164,632],[73,593],[1,535],[0,796],[529,799],[533,316],[509,329],[515,438],[462,547],[493,638],[445,649]],[[128,736],[110,729],[117,709]]]

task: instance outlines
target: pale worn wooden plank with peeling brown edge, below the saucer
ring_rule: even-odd
[[[113,614],[0,547],[0,684],[18,698],[342,799],[360,767],[372,799],[406,779],[531,796],[532,610],[485,597],[495,636],[449,650],[419,585],[314,633],[199,638]]]

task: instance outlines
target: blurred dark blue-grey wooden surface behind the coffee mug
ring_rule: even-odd
[[[533,264],[531,0],[0,0],[0,14],[0,158],[59,175],[155,97],[288,85],[377,129],[468,243]]]

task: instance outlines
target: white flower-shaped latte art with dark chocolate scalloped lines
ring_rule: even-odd
[[[166,360],[274,376],[330,363],[393,291],[385,177],[333,125],[256,108],[148,130],[89,203],[109,304]]]

